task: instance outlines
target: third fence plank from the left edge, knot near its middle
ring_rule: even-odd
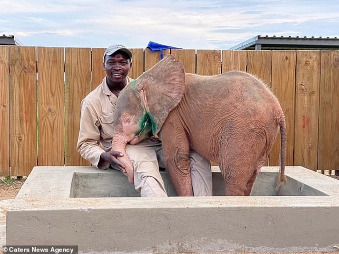
[[[39,166],[64,165],[64,49],[38,47]]]

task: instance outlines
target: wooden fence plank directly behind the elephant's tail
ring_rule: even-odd
[[[295,51],[272,52],[272,91],[280,102],[286,120],[286,165],[293,165],[296,56]],[[279,158],[280,132],[270,153],[269,165],[278,166]]]

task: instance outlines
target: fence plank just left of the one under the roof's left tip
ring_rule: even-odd
[[[196,74],[213,76],[221,73],[221,50],[197,50]]]

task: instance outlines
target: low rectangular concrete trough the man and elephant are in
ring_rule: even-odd
[[[335,251],[339,181],[287,167],[263,167],[250,197],[140,198],[127,178],[93,167],[35,167],[7,211],[7,245],[78,245],[80,253]]]

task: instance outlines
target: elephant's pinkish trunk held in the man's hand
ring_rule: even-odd
[[[128,177],[128,181],[130,183],[134,183],[133,176],[133,165],[130,158],[126,154],[126,145],[127,141],[124,134],[114,133],[112,139],[112,150],[122,152],[124,155],[121,157],[117,157],[118,160],[125,165],[125,172],[123,172]]]

